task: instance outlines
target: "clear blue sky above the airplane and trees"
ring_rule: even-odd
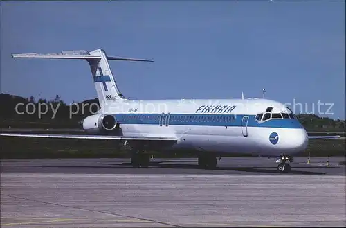
[[[139,99],[266,97],[345,119],[345,1],[2,1],[1,92],[95,98],[82,60],[12,53],[102,48]],[[307,109],[305,108],[305,105]]]

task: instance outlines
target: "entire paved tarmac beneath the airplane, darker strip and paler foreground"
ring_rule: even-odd
[[[1,227],[345,227],[345,157],[1,160]]]

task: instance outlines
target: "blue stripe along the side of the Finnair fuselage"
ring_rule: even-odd
[[[197,125],[197,126],[242,126],[242,119],[248,116],[248,127],[261,128],[304,128],[296,119],[271,119],[258,123],[255,115],[226,114],[115,114],[118,123],[147,125]],[[168,119],[169,117],[169,119]],[[168,122],[167,122],[168,121]]]

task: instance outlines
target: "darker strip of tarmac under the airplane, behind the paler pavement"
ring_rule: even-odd
[[[294,157],[289,175],[346,175],[345,157]],[[129,159],[1,159],[1,173],[80,173],[80,174],[273,174],[277,173],[275,158],[223,157],[215,170],[203,170],[197,159],[158,159],[149,168],[131,168]]]

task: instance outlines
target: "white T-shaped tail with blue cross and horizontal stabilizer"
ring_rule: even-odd
[[[140,61],[140,62],[154,62],[153,60],[142,60],[132,58],[120,58],[107,56],[104,50],[97,49],[94,51],[62,51],[61,53],[24,53],[13,54],[13,58],[48,58],[48,59],[74,59],[86,60],[89,62],[93,82],[95,83],[96,92],[101,108],[114,101],[127,100],[122,96],[113,73],[108,64],[108,60],[122,60],[122,61]]]

